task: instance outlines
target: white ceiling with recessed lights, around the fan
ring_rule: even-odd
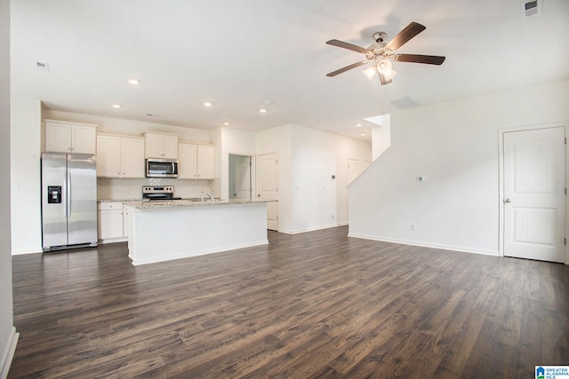
[[[12,0],[12,94],[196,129],[296,123],[360,138],[365,117],[398,110],[391,100],[568,79],[569,1],[539,1],[525,17],[521,0]],[[366,66],[325,76],[363,59],[327,40],[366,47],[373,32],[389,41],[411,21],[427,29],[397,52],[444,55],[442,66],[395,62],[383,87]]]

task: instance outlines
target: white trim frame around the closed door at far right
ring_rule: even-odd
[[[566,123],[561,122],[551,122],[551,123],[541,123],[537,125],[525,125],[517,126],[511,128],[500,128],[498,129],[498,255],[504,257],[504,133],[513,131],[525,131],[525,130],[540,130],[540,129],[550,129],[550,128],[565,128],[565,136],[567,136],[567,131],[569,131]],[[567,187],[567,180],[569,179],[569,160],[567,154],[567,145],[565,144],[565,187]],[[565,199],[565,237],[569,235],[569,212],[567,208],[569,207],[569,201]],[[569,265],[569,249],[568,245],[565,244],[565,265]]]

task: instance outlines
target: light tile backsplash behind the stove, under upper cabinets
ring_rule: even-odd
[[[97,178],[98,200],[134,200],[142,197],[142,186],[174,186],[174,196],[188,198],[199,197],[202,191],[212,192],[214,180],[185,180],[172,178]],[[218,191],[215,192],[219,196]]]

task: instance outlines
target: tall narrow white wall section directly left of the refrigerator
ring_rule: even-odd
[[[12,98],[12,254],[42,251],[41,102]]]

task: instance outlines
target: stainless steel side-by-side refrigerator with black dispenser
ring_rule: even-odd
[[[90,154],[42,154],[44,251],[97,246],[97,166]]]

